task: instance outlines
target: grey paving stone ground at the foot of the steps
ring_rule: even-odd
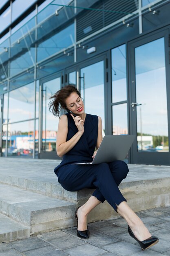
[[[0,244],[0,256],[170,256],[170,207],[137,213],[159,243],[142,251],[131,238],[121,217],[88,225],[89,239],[77,237],[76,227],[39,234],[31,238]]]

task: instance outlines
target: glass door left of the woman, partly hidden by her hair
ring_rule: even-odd
[[[41,81],[40,158],[59,159],[56,138],[59,118],[49,112],[49,98],[61,89],[62,73]]]

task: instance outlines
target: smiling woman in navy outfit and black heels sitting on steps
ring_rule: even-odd
[[[54,171],[59,183],[68,191],[84,188],[95,189],[88,201],[75,212],[77,236],[89,237],[87,216],[90,211],[105,200],[127,222],[128,232],[141,248],[155,245],[159,239],[151,236],[140,218],[130,209],[118,189],[120,182],[128,173],[123,161],[95,165],[72,165],[72,163],[92,162],[102,141],[102,119],[84,112],[84,103],[79,91],[67,85],[57,91],[50,102],[53,114],[59,117],[60,106],[73,114],[62,115],[58,125],[56,149],[57,155],[63,157]],[[95,104],[95,102],[93,102]]]

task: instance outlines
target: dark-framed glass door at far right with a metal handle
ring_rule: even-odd
[[[170,164],[168,29],[130,44],[132,163]]]

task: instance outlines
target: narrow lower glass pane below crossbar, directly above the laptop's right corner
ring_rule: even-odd
[[[112,107],[113,135],[128,134],[127,104],[119,104]]]

